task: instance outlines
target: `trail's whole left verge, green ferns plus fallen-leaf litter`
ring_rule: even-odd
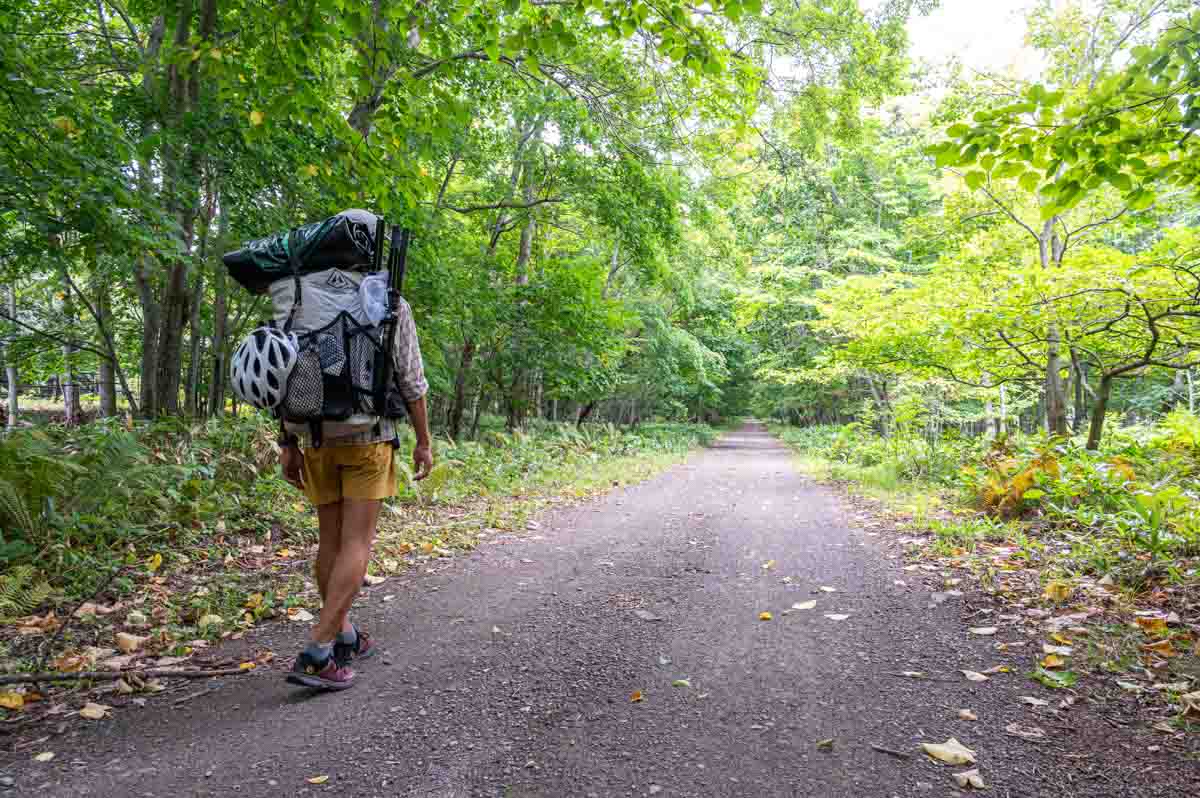
[[[275,432],[251,414],[0,439],[5,670],[178,665],[260,622],[311,619],[316,514],[282,480]],[[490,535],[529,534],[534,511],[642,479],[713,434],[682,424],[506,432],[497,418],[479,440],[439,439],[426,480],[414,482],[398,461],[401,492],[384,505],[370,578]],[[28,694],[5,701],[23,704],[14,696]]]

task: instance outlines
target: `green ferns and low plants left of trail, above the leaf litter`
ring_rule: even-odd
[[[151,572],[212,560],[230,538],[313,541],[316,515],[280,476],[275,432],[271,419],[247,414],[145,426],[112,419],[0,438],[0,614],[85,599],[106,584],[110,594],[130,593]],[[452,526],[444,508],[569,492],[614,463],[631,470],[630,458],[678,457],[713,436],[695,425],[538,424],[512,433],[485,425],[479,440],[437,439],[437,466],[415,482],[406,432],[400,493],[383,515],[382,538],[414,521],[424,536],[436,534]],[[502,512],[490,512],[472,520],[476,529],[499,524]]]

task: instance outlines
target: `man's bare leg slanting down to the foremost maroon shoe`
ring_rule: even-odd
[[[320,620],[312,630],[316,643],[329,643],[338,631],[352,629],[350,606],[371,562],[371,545],[382,504],[378,499],[343,499],[341,503],[341,541],[325,583]]]

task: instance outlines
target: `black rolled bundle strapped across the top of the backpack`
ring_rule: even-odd
[[[300,274],[341,269],[373,271],[376,228],[380,218],[352,208],[320,222],[296,228],[296,258]],[[226,253],[229,276],[252,294],[265,294],[271,283],[292,275],[288,241],[292,230],[256,239],[240,250]]]

